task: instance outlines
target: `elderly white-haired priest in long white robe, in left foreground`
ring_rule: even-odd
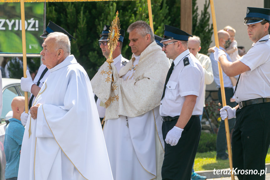
[[[42,44],[50,71],[30,108],[18,180],[112,180],[90,80],[63,33]]]

